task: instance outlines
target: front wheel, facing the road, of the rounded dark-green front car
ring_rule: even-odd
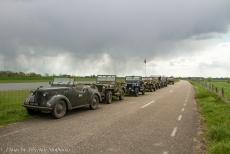
[[[60,119],[66,114],[66,103],[64,101],[59,101],[55,104],[53,109],[54,118]]]

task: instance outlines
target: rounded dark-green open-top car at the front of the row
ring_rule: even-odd
[[[97,87],[77,85],[72,78],[55,78],[50,87],[40,87],[25,100],[24,107],[31,115],[37,111],[50,112],[62,118],[67,111],[88,106],[97,109],[101,95]]]

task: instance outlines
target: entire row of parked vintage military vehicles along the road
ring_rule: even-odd
[[[173,77],[126,76],[125,83],[119,82],[115,75],[98,75],[96,84],[77,84],[74,78],[54,78],[50,87],[39,87],[32,91],[23,106],[28,114],[38,112],[52,113],[54,118],[62,118],[72,109],[89,107],[98,108],[100,102],[110,104],[113,96],[123,100],[126,95],[139,96],[146,91],[174,84]]]

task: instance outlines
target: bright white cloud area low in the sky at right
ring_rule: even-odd
[[[171,60],[149,62],[148,75],[163,74],[176,76],[230,76],[230,42],[210,45],[205,50]]]

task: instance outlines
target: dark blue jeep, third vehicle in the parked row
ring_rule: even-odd
[[[141,76],[126,76],[126,94],[138,96],[139,92],[145,94],[145,85]]]

